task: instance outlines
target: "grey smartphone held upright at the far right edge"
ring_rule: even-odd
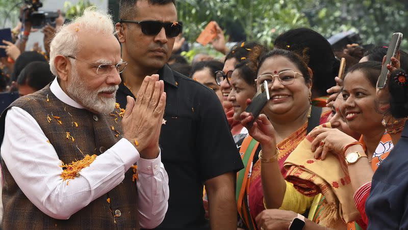
[[[386,87],[387,77],[390,74],[390,71],[387,69],[387,65],[391,64],[391,57],[397,56],[401,40],[402,40],[401,33],[394,33],[392,35],[391,42],[387,50],[386,62],[384,63],[384,66],[382,66],[381,73],[377,80],[377,89],[382,89]]]

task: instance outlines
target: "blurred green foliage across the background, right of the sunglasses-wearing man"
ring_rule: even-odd
[[[247,40],[271,45],[281,33],[311,27],[326,38],[343,31],[359,32],[364,44],[387,45],[391,34],[408,36],[408,1],[391,0],[179,0],[184,35],[193,42],[211,20],[222,28],[237,22]],[[408,49],[403,39],[402,48]]]

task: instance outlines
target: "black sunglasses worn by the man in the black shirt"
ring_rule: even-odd
[[[177,37],[183,30],[183,23],[176,22],[161,22],[161,21],[132,21],[119,19],[119,23],[131,22],[140,24],[142,33],[145,35],[158,35],[162,28],[166,31],[166,36],[169,38]]]

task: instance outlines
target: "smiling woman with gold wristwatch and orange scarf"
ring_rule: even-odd
[[[324,160],[330,152],[337,156],[338,167],[343,165],[345,159],[351,187],[355,191],[355,204],[352,205],[362,213],[362,220],[358,223],[363,229],[367,228],[365,199],[362,202],[361,195],[356,194],[359,190],[366,192],[366,182],[371,180],[374,171],[384,163],[393,149],[391,136],[384,134],[385,127],[381,124],[384,115],[378,112],[376,105],[375,84],[380,71],[379,62],[363,62],[351,67],[344,78],[342,96],[345,104],[341,112],[345,115],[348,127],[362,134],[359,141],[331,128],[315,129],[310,133],[316,137],[312,142],[315,159]]]

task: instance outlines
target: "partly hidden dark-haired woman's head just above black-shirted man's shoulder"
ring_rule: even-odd
[[[223,66],[219,61],[197,62],[193,65],[190,73],[192,79],[214,90],[220,101],[222,100],[222,94],[215,78],[215,72],[221,71]]]

